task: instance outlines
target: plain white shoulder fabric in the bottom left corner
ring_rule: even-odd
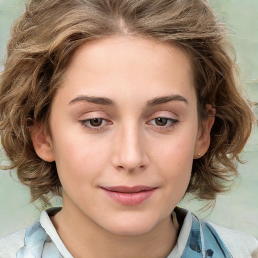
[[[24,246],[24,238],[26,229],[21,229],[11,235],[0,240],[0,257],[11,258],[16,257],[17,251]]]

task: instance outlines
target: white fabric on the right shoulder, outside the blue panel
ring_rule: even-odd
[[[216,230],[234,258],[258,258],[258,241],[253,236],[212,222],[207,223]]]

